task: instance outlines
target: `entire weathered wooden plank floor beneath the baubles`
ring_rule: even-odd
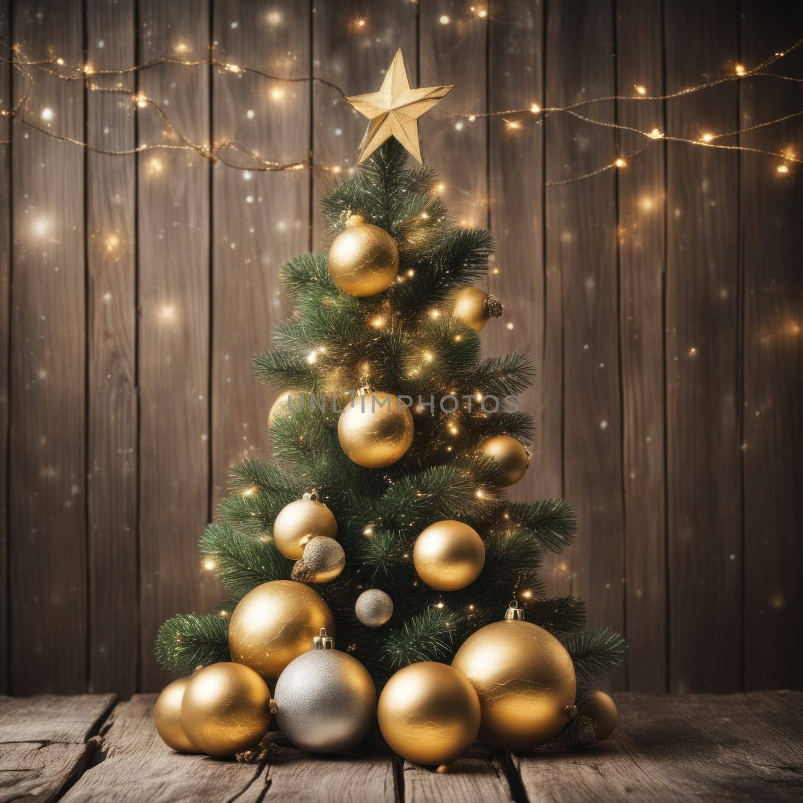
[[[797,801],[803,692],[617,696],[613,736],[585,752],[475,747],[430,772],[387,752],[323,758],[271,734],[259,764],[169,751],[155,695],[0,698],[0,801]]]

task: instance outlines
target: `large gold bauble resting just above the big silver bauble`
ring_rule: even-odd
[[[241,599],[229,622],[231,658],[275,679],[312,647],[322,627],[335,632],[332,610],[304,583],[273,580]]]

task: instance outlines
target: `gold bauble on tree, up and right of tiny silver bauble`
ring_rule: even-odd
[[[415,540],[413,563],[418,577],[430,588],[457,591],[479,577],[485,565],[485,544],[462,521],[436,521]]]

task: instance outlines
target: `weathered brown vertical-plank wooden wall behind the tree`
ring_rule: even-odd
[[[215,43],[231,63],[357,93],[402,47],[411,79],[457,84],[443,112],[677,92],[801,34],[799,3],[756,0],[0,0],[0,35],[28,58],[96,67],[179,45],[204,59]],[[801,76],[803,59],[772,71]],[[312,149],[347,168],[365,125],[320,83],[174,64],[96,79],[109,81],[196,141],[278,161]],[[2,108],[25,89],[0,62]],[[800,83],[752,77],[583,113],[696,138],[801,104]],[[422,130],[446,202],[496,238],[506,314],[488,349],[529,351],[539,372],[516,493],[564,495],[581,522],[550,589],[626,634],[615,687],[799,686],[801,173],[657,142],[626,169],[555,184],[644,138],[566,114],[509,128],[438,111]],[[26,113],[111,149],[165,136],[127,96],[40,72]],[[198,536],[230,464],[267,454],[251,354],[290,312],[280,264],[325,236],[330,178],[104,156],[21,120],[0,120],[0,140],[0,690],[153,690],[157,626],[220,593]],[[724,142],[803,148],[794,119]]]

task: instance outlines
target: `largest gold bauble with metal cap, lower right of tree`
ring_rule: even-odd
[[[479,695],[480,741],[497,750],[532,750],[552,739],[577,692],[565,647],[521,615],[512,603],[503,622],[469,636],[452,661]]]

